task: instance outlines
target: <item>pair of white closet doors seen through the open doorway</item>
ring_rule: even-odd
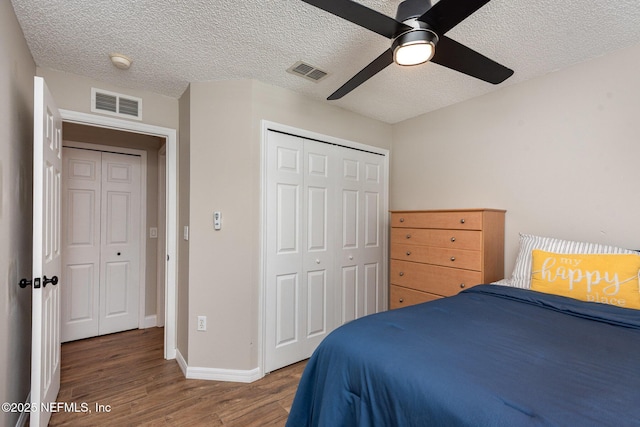
[[[140,157],[64,148],[62,341],[139,326]]]

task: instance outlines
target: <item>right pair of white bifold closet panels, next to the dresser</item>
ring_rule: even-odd
[[[340,324],[377,313],[386,306],[384,157],[338,147],[340,212],[336,316]]]

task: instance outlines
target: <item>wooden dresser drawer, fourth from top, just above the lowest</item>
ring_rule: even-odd
[[[392,285],[404,286],[437,295],[455,295],[482,283],[482,273],[430,264],[391,260]]]

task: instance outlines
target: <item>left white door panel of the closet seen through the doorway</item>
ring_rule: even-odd
[[[101,154],[63,149],[62,342],[98,335]]]

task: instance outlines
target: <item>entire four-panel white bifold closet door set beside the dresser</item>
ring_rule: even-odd
[[[386,308],[384,156],[269,131],[265,372]]]

